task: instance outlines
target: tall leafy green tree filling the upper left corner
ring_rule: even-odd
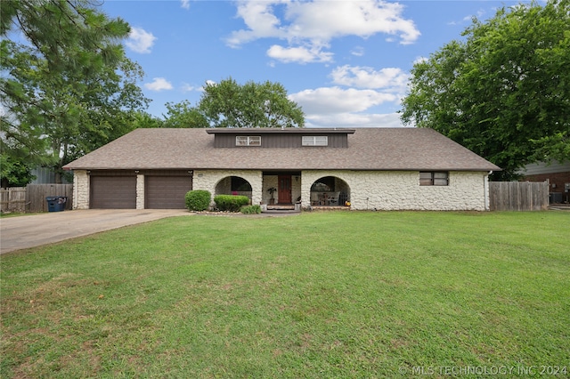
[[[142,69],[120,44],[124,20],[81,0],[20,0],[2,4],[0,21],[3,155],[58,173],[128,132],[148,105]]]

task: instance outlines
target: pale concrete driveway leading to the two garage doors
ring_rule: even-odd
[[[191,213],[185,209],[88,209],[3,217],[0,254],[180,215]]]

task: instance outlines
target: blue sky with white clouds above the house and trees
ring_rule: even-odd
[[[206,83],[283,85],[305,127],[400,127],[410,72],[472,24],[517,1],[118,1],[127,56],[145,73],[147,111],[196,106]]]

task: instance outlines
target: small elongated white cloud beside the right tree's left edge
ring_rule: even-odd
[[[336,85],[358,88],[381,88],[390,93],[405,92],[409,74],[402,69],[387,68],[378,71],[370,67],[341,66],[334,69],[330,76]]]

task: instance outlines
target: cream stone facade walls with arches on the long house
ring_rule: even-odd
[[[193,189],[206,189],[213,197],[230,193],[231,176],[238,176],[251,185],[251,203],[268,204],[267,189],[278,187],[278,175],[263,175],[259,170],[195,170]],[[311,206],[311,186],[322,177],[333,176],[342,183],[352,210],[473,210],[489,209],[486,172],[450,172],[447,186],[420,186],[417,171],[323,171],[306,170],[291,176],[291,200],[302,199],[302,206]],[[89,208],[89,175],[85,170],[74,172],[74,209]],[[136,208],[144,209],[144,175],[137,175]],[[274,195],[277,202],[277,194]],[[263,202],[263,203],[262,203]]]

